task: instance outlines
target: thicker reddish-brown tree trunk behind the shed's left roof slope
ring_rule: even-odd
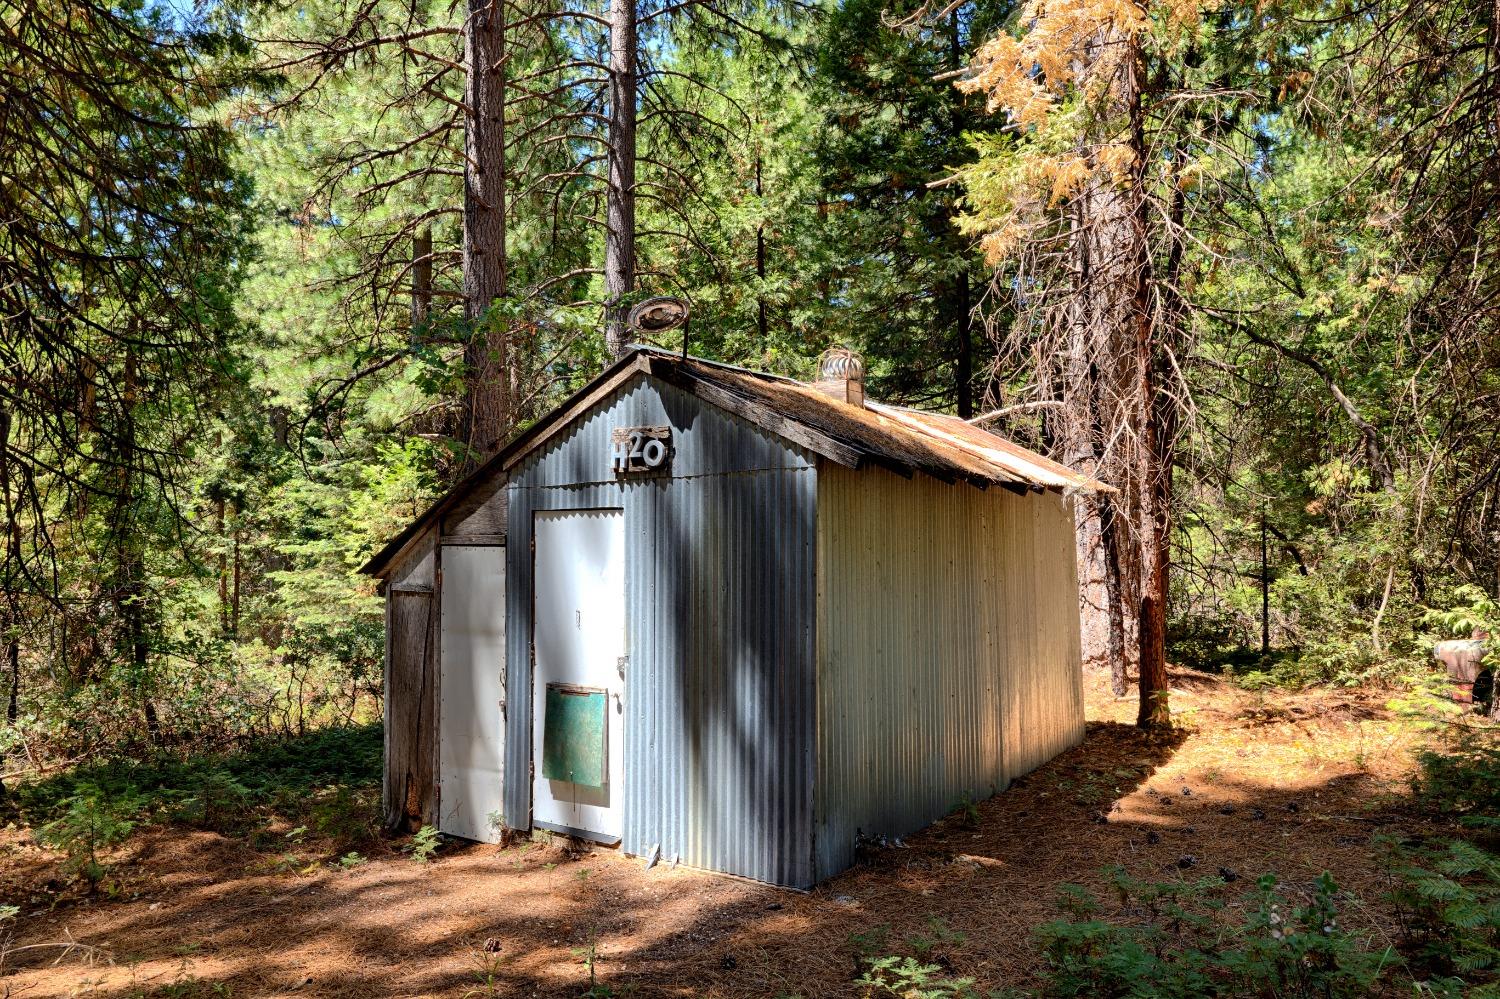
[[[466,464],[500,450],[510,434],[510,326],[490,314],[506,297],[506,6],[470,0],[464,33],[468,64],[464,129],[464,318],[474,327],[464,348],[462,441]],[[430,252],[428,254],[430,260]]]

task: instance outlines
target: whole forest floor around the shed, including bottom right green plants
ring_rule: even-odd
[[[1500,900],[1468,843],[1496,844],[1462,804],[1470,784],[1438,774],[1416,795],[1432,736],[1389,711],[1389,693],[1257,693],[1174,672],[1180,728],[1143,735],[1126,724],[1132,702],[1089,682],[1082,747],[807,894],[552,842],[423,846],[414,862],[411,843],[284,818],[258,836],[148,824],[100,852],[108,886],[86,891],[63,886],[63,854],[8,830],[0,898],[18,914],[0,922],[0,987],[1292,996],[1422,981],[1486,994],[1473,982],[1492,970]],[[1444,921],[1467,928],[1413,932]],[[20,950],[33,945],[46,946]]]

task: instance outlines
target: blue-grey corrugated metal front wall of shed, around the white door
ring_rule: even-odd
[[[670,478],[609,476],[609,432],[670,424]],[[810,885],[816,470],[783,441],[636,380],[510,482],[507,771],[531,759],[536,510],[626,512],[624,849]],[[519,766],[518,766],[519,760]],[[507,782],[507,824],[531,786]],[[522,818],[525,816],[525,818]]]

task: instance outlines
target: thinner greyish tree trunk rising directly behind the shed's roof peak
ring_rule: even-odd
[[[636,0],[609,3],[609,189],[604,218],[604,345],[630,344],[626,298],[636,284]]]

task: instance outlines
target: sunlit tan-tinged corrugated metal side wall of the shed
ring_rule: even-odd
[[[824,465],[819,879],[1082,741],[1064,502]]]

